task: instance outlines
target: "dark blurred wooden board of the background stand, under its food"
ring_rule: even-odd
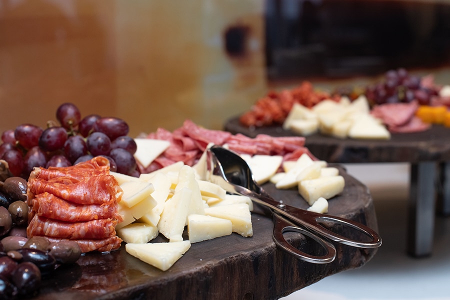
[[[224,129],[250,137],[264,133],[271,136],[298,135],[281,126],[248,128],[238,117],[225,122]],[[327,162],[411,162],[450,160],[450,128],[432,125],[413,133],[392,133],[388,140],[336,138],[315,133],[306,136],[305,145],[317,158]]]

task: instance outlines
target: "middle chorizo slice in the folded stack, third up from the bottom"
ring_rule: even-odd
[[[107,204],[75,204],[44,192],[35,195],[31,205],[37,215],[61,221],[83,222],[106,218],[122,221],[115,201]]]

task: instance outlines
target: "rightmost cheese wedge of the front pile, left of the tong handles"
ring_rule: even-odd
[[[204,209],[204,213],[215,217],[228,219],[233,224],[233,232],[242,236],[252,236],[253,227],[248,204],[236,203],[228,205],[216,205]]]

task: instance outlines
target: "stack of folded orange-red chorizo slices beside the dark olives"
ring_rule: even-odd
[[[27,236],[74,240],[83,253],[118,249],[122,193],[102,156],[68,167],[36,167],[28,179]]]

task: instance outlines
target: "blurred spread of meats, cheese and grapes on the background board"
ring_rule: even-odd
[[[389,70],[364,88],[315,90],[307,81],[269,92],[239,122],[251,130],[282,126],[307,136],[316,132],[339,138],[389,139],[390,133],[419,132],[430,124],[450,126],[450,86],[434,83],[404,68]]]

